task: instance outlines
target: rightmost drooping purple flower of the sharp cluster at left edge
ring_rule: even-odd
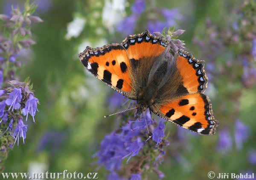
[[[28,115],[30,114],[32,115],[33,121],[35,122],[35,118],[34,118],[35,111],[36,110],[38,111],[37,102],[38,102],[38,99],[35,98],[32,93],[30,93],[29,99],[26,101],[26,106],[25,108],[22,109],[23,115],[26,115],[26,121],[28,120]]]

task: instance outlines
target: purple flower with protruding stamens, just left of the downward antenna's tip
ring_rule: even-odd
[[[140,138],[137,138],[135,141],[133,140],[132,142],[125,143],[126,150],[129,151],[130,153],[122,157],[122,159],[130,155],[130,157],[126,161],[128,162],[132,156],[136,156],[139,153],[140,149],[143,147],[144,144],[145,142],[141,142]]]

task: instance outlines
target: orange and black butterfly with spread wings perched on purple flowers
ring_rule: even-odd
[[[214,135],[219,122],[204,94],[208,78],[204,61],[178,50],[166,59],[168,42],[148,30],[129,35],[121,44],[87,48],[79,53],[96,78],[137,101],[137,114],[154,114],[200,135]]]

